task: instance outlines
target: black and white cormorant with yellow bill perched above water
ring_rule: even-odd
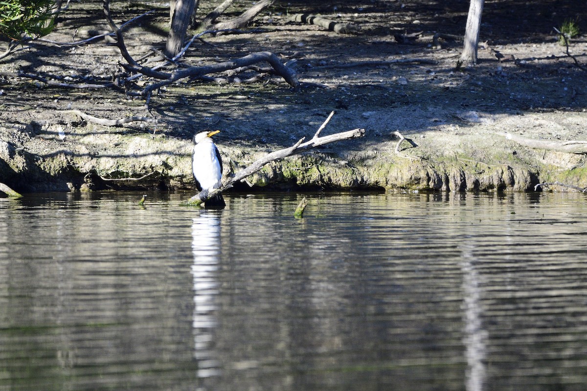
[[[194,151],[191,154],[191,172],[194,174],[198,191],[212,190],[221,186],[222,158],[210,137],[220,132],[214,130],[197,133],[194,136]],[[218,193],[204,203],[205,208],[224,208],[226,203]]]

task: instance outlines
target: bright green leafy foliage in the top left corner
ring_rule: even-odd
[[[55,26],[53,0],[0,1],[0,35],[21,39],[47,35]]]

